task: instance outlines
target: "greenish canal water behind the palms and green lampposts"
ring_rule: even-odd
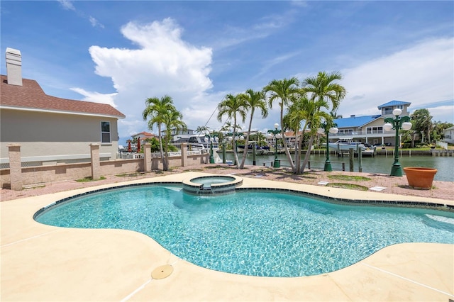
[[[222,152],[218,152],[222,158]],[[241,161],[243,153],[238,154],[238,158]],[[302,155],[304,156],[304,155]],[[292,155],[292,158],[294,155]],[[287,156],[284,154],[278,154],[277,158],[281,160],[282,167],[289,167],[289,162]],[[270,167],[272,161],[275,159],[275,155],[256,155],[255,164],[258,166],[263,166],[263,163],[267,167]],[[226,160],[233,160],[233,153],[226,154]],[[326,160],[326,155],[311,155],[309,158],[311,161],[311,169],[323,169],[324,162]],[[330,156],[331,165],[333,170],[342,170],[341,162],[345,163],[345,171],[350,171],[349,159],[348,157],[337,157],[337,155]],[[301,160],[302,162],[302,160]],[[394,162],[394,157],[388,155],[377,155],[375,157],[362,157],[362,172],[367,173],[380,173],[380,174],[389,174],[391,172],[391,167]],[[402,156],[399,157],[399,162],[402,167],[429,167],[438,169],[437,174],[434,177],[434,180],[439,181],[454,181],[454,157],[433,157],[433,156]],[[253,164],[253,155],[248,154],[246,157],[245,164]],[[359,162],[358,157],[355,157],[353,160],[353,171],[358,172]]]

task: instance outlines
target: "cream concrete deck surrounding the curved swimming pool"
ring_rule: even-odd
[[[200,172],[125,181],[178,181]],[[240,276],[197,267],[129,230],[57,228],[33,220],[62,198],[119,184],[3,201],[1,301],[448,301],[454,300],[454,245],[386,247],[345,269],[294,278]],[[440,199],[243,178],[243,187],[306,191],[336,198],[440,203]],[[443,200],[454,205],[454,201]],[[171,264],[165,279],[152,279]]]

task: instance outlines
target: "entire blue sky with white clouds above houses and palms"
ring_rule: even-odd
[[[454,123],[454,1],[5,1],[6,47],[46,94],[111,104],[120,142],[148,131],[150,97],[172,97],[189,129],[217,121],[226,94],[273,79],[340,72],[338,114],[380,114],[388,101]],[[279,122],[256,114],[253,129]],[[246,123],[240,123],[246,129]]]

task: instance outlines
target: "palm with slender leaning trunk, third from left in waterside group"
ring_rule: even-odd
[[[292,155],[290,155],[289,148],[287,147],[287,140],[285,140],[285,131],[284,131],[284,108],[289,106],[289,103],[294,99],[294,95],[298,92],[298,84],[299,81],[296,77],[292,77],[290,79],[274,79],[272,80],[263,91],[265,94],[270,92],[270,98],[268,99],[268,103],[270,108],[272,108],[272,103],[274,101],[278,101],[280,107],[280,123],[282,129],[282,142],[284,144],[285,154],[287,155],[287,159],[290,162],[290,167],[292,170],[295,171],[295,165],[292,161]]]

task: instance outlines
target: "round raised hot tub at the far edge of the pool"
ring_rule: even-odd
[[[183,190],[192,194],[232,193],[243,184],[241,177],[233,175],[209,175],[183,181]]]

